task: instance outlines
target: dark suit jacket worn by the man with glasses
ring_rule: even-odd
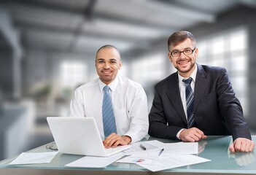
[[[194,90],[194,117],[197,128],[209,135],[232,135],[251,139],[241,104],[235,96],[226,69],[198,66]],[[177,139],[187,128],[179,92],[178,73],[155,85],[155,97],[149,114],[150,136]]]

